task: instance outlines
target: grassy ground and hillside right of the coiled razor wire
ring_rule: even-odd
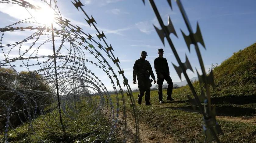
[[[234,53],[215,67],[213,73],[216,89],[213,91],[211,88],[212,104],[216,105],[217,121],[225,133],[219,135],[220,141],[256,142],[256,43]],[[199,82],[196,81],[193,85],[199,95]],[[166,92],[163,90],[164,94]],[[169,134],[178,143],[204,141],[204,135],[201,135],[202,115],[195,113],[199,112],[198,108],[193,111],[188,102],[187,95],[192,96],[188,86],[174,89],[172,97],[175,101],[164,104],[158,103],[157,91],[151,91],[150,100],[153,106],[145,106],[144,99],[142,105],[138,105],[137,95],[138,92],[133,93],[140,122]],[[129,102],[126,103],[129,107]],[[131,109],[127,108],[127,111]]]

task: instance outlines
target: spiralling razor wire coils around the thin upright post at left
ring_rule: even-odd
[[[99,115],[99,113],[105,112],[105,115],[108,115],[108,121],[111,122],[111,125],[108,125],[111,127],[110,133],[108,135],[108,138],[106,139],[106,142],[109,142],[112,135],[117,134],[117,132],[120,130],[121,126],[117,128],[117,120],[119,116],[119,100],[123,103],[123,117],[121,120],[125,127],[123,129],[124,132],[124,139],[123,141],[125,142],[126,139],[126,101],[125,101],[125,95],[122,89],[122,86],[120,82],[123,82],[123,85],[127,88],[127,96],[130,98],[130,106],[133,110],[133,118],[135,120],[135,125],[134,128],[137,131],[137,134],[134,136],[135,140],[138,142],[139,140],[139,121],[138,121],[138,115],[137,115],[137,108],[135,105],[135,100],[132,95],[131,88],[128,84],[128,80],[124,75],[123,69],[120,68],[119,66],[119,59],[116,58],[113,54],[113,48],[111,45],[108,45],[105,41],[105,35],[103,32],[99,32],[97,27],[94,25],[95,20],[93,17],[89,18],[88,15],[84,12],[84,10],[81,8],[83,6],[80,1],[75,1],[72,2],[73,5],[79,10],[79,8],[83,11],[85,17],[88,19],[85,19],[87,23],[97,30],[98,32],[98,39],[100,41],[103,40],[104,44],[106,45],[103,46],[101,45],[100,42],[96,42],[94,38],[89,34],[85,33],[82,31],[82,28],[80,28],[77,25],[72,25],[70,21],[66,18],[62,18],[61,13],[59,12],[59,8],[57,6],[57,1],[53,1],[52,4],[49,4],[47,1],[42,0],[46,5],[49,5],[51,9],[54,10],[55,12],[55,25],[59,25],[61,27],[60,29],[54,27],[48,27],[48,26],[41,26],[41,23],[38,23],[34,17],[32,16],[31,18],[26,18],[23,19],[19,22],[16,22],[12,25],[6,26],[4,28],[0,29],[0,32],[2,33],[1,39],[0,39],[0,47],[3,52],[4,59],[0,60],[0,68],[2,67],[11,67],[12,71],[8,72],[6,69],[2,68],[1,73],[6,76],[11,76],[14,77],[15,79],[24,79],[24,80],[33,80],[35,81],[42,81],[46,84],[52,85],[52,91],[46,92],[49,96],[54,97],[54,102],[52,102],[53,108],[50,108],[50,115],[45,116],[44,122],[47,125],[47,128],[51,128],[50,125],[48,125],[48,121],[50,120],[50,117],[55,116],[54,120],[58,122],[58,119],[56,118],[57,113],[54,112],[55,109],[59,111],[59,116],[65,116],[66,118],[70,118],[72,120],[76,120],[75,117],[72,116],[72,113],[78,113],[76,110],[76,104],[82,103],[81,102],[81,96],[84,97],[83,100],[86,100],[88,107],[91,109],[89,111],[92,111],[91,115],[88,117],[96,117]],[[23,0],[2,0],[0,1],[1,4],[12,4],[12,5],[19,5],[22,6],[26,9],[34,9],[34,10],[40,10],[40,6],[35,6],[30,4],[29,2],[23,1]],[[50,1],[51,3],[51,1]],[[35,20],[36,22],[34,22]],[[93,23],[94,22],[94,23]],[[21,24],[38,24],[38,26],[18,26]],[[4,42],[4,34],[5,32],[18,32],[18,31],[36,31],[27,38],[24,38],[23,40],[19,42],[14,42],[10,44],[2,44]],[[48,34],[52,32],[52,34]],[[39,39],[41,36],[47,36],[47,40],[45,40],[41,45],[36,47],[36,44],[38,43]],[[51,37],[52,36],[52,37]],[[54,38],[58,38],[57,40]],[[22,52],[22,45],[24,43],[28,43],[30,41],[34,40],[32,44],[24,51]],[[48,43],[53,44],[53,48],[55,50],[54,43],[59,42],[59,48],[56,48],[56,53],[53,55],[40,55],[40,48],[42,48],[44,45]],[[93,42],[94,44],[90,43]],[[70,44],[70,47],[65,46],[65,43]],[[95,47],[94,45],[97,45]],[[36,47],[36,48],[34,48]],[[15,58],[11,57],[11,52],[15,51],[14,49],[18,48],[19,55]],[[105,59],[105,57],[102,55],[102,52],[99,52],[97,48],[103,50],[105,54],[108,56],[108,58],[111,59],[111,62],[113,62],[116,67],[118,68],[118,73],[119,75],[122,75],[123,80],[119,81],[117,75],[115,74],[113,68],[110,66],[108,61]],[[6,51],[6,49],[8,49]],[[63,50],[64,49],[64,50]],[[32,52],[30,52],[32,51]],[[62,52],[64,51],[64,52]],[[98,63],[91,61],[86,58],[86,55],[84,51],[88,51],[97,61]],[[36,61],[33,62],[33,61]],[[20,63],[20,65],[16,65],[15,63]],[[53,65],[53,63],[55,65]],[[106,73],[108,78],[110,79],[113,89],[115,91],[116,95],[116,111],[114,111],[114,103],[110,97],[110,94],[107,91],[107,88],[105,85],[101,82],[101,80],[90,70],[85,66],[85,63],[90,63],[98,68],[100,68],[102,71]],[[38,70],[34,70],[33,67],[39,67]],[[28,73],[25,74],[20,74],[15,67],[25,67]],[[32,69],[32,70],[31,70]],[[55,71],[55,72],[54,72]],[[43,77],[40,77],[43,75]],[[40,77],[40,78],[35,78],[35,77]],[[113,79],[114,78],[114,79]],[[116,80],[116,81],[114,81]],[[115,83],[116,82],[116,83]],[[89,86],[92,85],[92,86]],[[28,91],[21,91],[20,88],[12,88],[9,85],[6,84],[0,84],[1,86],[5,87],[7,90],[3,90],[5,94],[9,94],[9,92],[15,93],[13,97],[9,100],[2,101],[2,106],[6,108],[6,125],[5,125],[5,142],[8,142],[8,131],[9,129],[15,130],[14,127],[12,126],[10,122],[10,116],[13,114],[12,108],[17,108],[20,109],[21,107],[16,107],[14,102],[17,101],[16,97],[22,98],[24,101],[23,108],[26,110],[19,110],[19,113],[23,113],[23,116],[26,116],[27,120],[29,121],[29,126],[31,131],[33,132],[34,135],[37,136],[36,131],[34,130],[34,119],[36,118],[35,113],[25,113],[28,109],[31,107],[32,101],[34,101],[34,107],[35,111],[37,111],[36,108],[40,108],[41,115],[44,115],[45,111],[45,106],[41,106],[41,103],[44,101],[36,101],[35,100],[35,95],[39,94],[41,92],[41,98],[45,98],[45,92],[42,92],[40,90],[28,90]],[[117,93],[117,87],[120,89],[121,93],[121,99],[118,96]],[[61,91],[61,95],[58,95],[58,100],[56,99],[57,97],[55,96],[55,89],[57,88]],[[24,87],[28,88],[28,87]],[[96,94],[96,92],[92,92],[89,90],[92,89],[96,91],[100,96],[99,98],[92,98],[91,95]],[[9,89],[11,91],[9,91]],[[22,88],[21,88],[22,89]],[[24,90],[24,89],[23,89]],[[27,89],[25,89],[27,90]],[[33,93],[33,94],[32,94]],[[30,95],[30,96],[28,96]],[[30,101],[30,99],[32,101]],[[60,99],[60,100],[59,100]],[[84,102],[83,102],[84,103]],[[39,105],[38,105],[39,104]],[[57,108],[59,107],[59,108]],[[62,113],[61,113],[62,112]],[[115,112],[115,114],[114,114]],[[20,114],[18,115],[20,116]],[[20,118],[20,121],[22,119]],[[67,121],[67,120],[66,120]],[[97,120],[93,123],[96,124]],[[24,122],[22,122],[24,124]],[[65,128],[67,125],[65,125],[65,119],[62,123],[59,124],[63,128],[63,132],[65,133]],[[96,131],[100,126],[94,129]],[[97,137],[100,138],[101,135]],[[42,139],[37,136],[37,139],[42,141]],[[94,140],[93,142],[97,141]]]

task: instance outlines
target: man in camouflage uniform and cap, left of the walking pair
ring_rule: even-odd
[[[138,88],[139,88],[139,95],[138,95],[138,103],[141,105],[142,97],[145,93],[145,101],[146,105],[151,105],[150,100],[150,88],[152,86],[151,80],[149,79],[149,76],[153,78],[154,84],[155,81],[155,75],[153,73],[152,67],[150,63],[146,60],[147,52],[142,51],[141,57],[137,59],[133,66],[133,84],[136,84],[136,76],[138,80]]]

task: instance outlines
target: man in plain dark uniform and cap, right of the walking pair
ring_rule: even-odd
[[[156,72],[156,76],[157,76],[156,83],[158,84],[159,103],[164,103],[163,92],[162,92],[164,80],[168,84],[166,100],[173,101],[174,100],[174,99],[172,99],[173,83],[172,83],[172,78],[170,77],[170,71],[169,71],[169,66],[168,66],[167,60],[166,60],[166,58],[163,57],[164,50],[158,49],[158,55],[159,55],[159,57],[155,58],[155,60],[154,60],[154,67],[155,67],[155,72]]]

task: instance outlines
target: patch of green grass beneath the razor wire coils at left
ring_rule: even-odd
[[[96,140],[96,143],[105,142],[110,132],[108,121],[101,113],[94,116],[91,115],[93,106],[89,106],[85,101],[77,104],[78,113],[69,112],[69,116],[75,118],[70,119],[62,112],[62,121],[66,130],[66,138],[59,121],[59,112],[54,110],[47,115],[41,115],[32,122],[32,128],[29,123],[25,123],[15,130],[8,131],[9,142],[37,142],[45,141],[49,143],[89,143]],[[86,110],[85,110],[86,109]],[[99,138],[98,138],[99,137]],[[4,141],[4,135],[0,135],[0,141]],[[98,138],[98,139],[97,139]],[[114,141],[113,141],[114,140]],[[118,143],[120,140],[112,138],[113,143]]]

